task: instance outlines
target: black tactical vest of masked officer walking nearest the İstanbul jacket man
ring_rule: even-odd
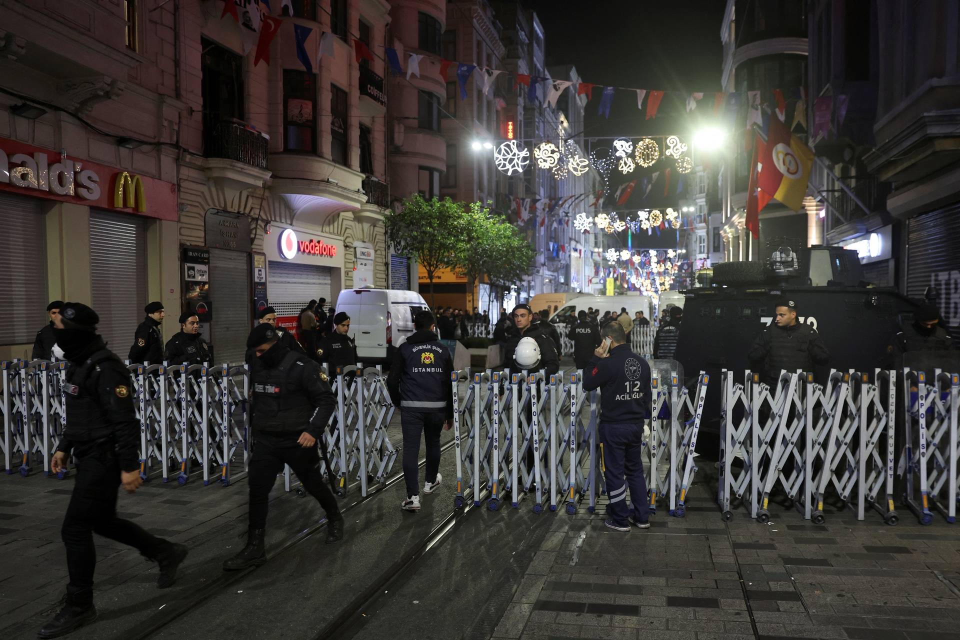
[[[292,382],[293,372],[308,367],[302,353],[291,351],[279,367],[253,367],[253,429],[259,431],[302,431],[315,407],[303,388]],[[302,363],[298,365],[297,363]]]

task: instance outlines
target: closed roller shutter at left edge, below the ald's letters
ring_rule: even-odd
[[[40,201],[0,194],[0,344],[34,344],[46,323],[47,241]],[[30,356],[28,350],[27,357]]]

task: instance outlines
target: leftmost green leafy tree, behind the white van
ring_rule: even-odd
[[[396,252],[415,258],[430,283],[430,306],[435,307],[433,280],[441,269],[456,267],[455,256],[465,243],[464,205],[449,198],[424,200],[414,195],[399,211],[384,216],[387,240]]]

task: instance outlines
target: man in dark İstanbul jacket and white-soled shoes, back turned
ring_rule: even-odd
[[[403,479],[407,497],[400,509],[420,510],[420,433],[426,439],[426,477],[423,493],[433,493],[443,478],[440,472],[440,432],[453,419],[450,372],[453,357],[437,336],[437,321],[429,311],[414,318],[414,334],[396,350],[387,377],[387,391],[400,408],[403,430]]]

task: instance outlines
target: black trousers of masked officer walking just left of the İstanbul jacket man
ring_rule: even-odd
[[[320,472],[317,447],[303,447],[297,439],[302,431],[261,432],[253,436],[253,455],[248,469],[250,485],[250,528],[266,529],[267,501],[276,483],[276,475],[289,464],[303,488],[317,499],[329,520],[340,517],[340,507],[333,491],[324,483]]]

